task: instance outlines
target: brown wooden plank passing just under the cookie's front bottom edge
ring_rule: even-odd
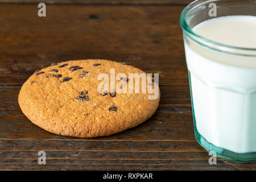
[[[0,139],[86,140],[51,134],[31,123],[24,115],[0,116]],[[195,141],[192,113],[156,113],[141,125],[109,137],[89,140]]]

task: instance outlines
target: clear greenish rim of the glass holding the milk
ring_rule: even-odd
[[[234,53],[234,51],[233,51],[234,49],[235,50],[240,50],[240,51],[253,51],[253,52],[255,52],[255,54],[253,54],[253,55],[246,54],[245,56],[256,56],[256,48],[246,48],[246,47],[230,46],[228,44],[222,44],[222,43],[219,43],[219,42],[215,42],[213,40],[205,38],[204,36],[196,34],[196,32],[194,32],[188,26],[187,14],[189,12],[191,12],[192,10],[195,10],[197,7],[200,7],[200,6],[203,6],[203,5],[207,5],[209,3],[216,2],[216,1],[220,1],[220,0],[207,0],[207,1],[196,0],[196,1],[193,1],[192,3],[189,3],[189,5],[187,5],[183,9],[183,11],[181,12],[181,15],[180,15],[180,26],[183,29],[183,31],[185,31],[185,33],[187,35],[189,35],[191,38],[196,38],[198,40],[201,40],[201,41],[207,43],[208,45],[210,44],[210,45],[222,48],[222,49],[217,49],[217,51],[226,52],[226,53],[232,53],[232,54]],[[204,46],[207,46],[207,45],[204,45]],[[207,47],[209,47],[209,46],[207,46]],[[236,54],[236,53],[234,53],[234,54]],[[240,54],[238,54],[238,55],[240,55]]]

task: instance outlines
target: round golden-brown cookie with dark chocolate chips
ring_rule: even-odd
[[[131,79],[129,73],[138,75]],[[135,81],[140,75],[146,73],[109,60],[52,64],[24,82],[19,106],[32,123],[51,133],[81,138],[112,135],[146,121],[158,107],[158,85],[146,79],[146,88],[158,92],[149,99],[153,93],[142,91],[143,79]]]

